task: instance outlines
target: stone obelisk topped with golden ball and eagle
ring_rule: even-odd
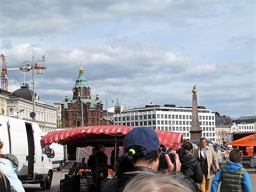
[[[202,137],[202,129],[199,126],[196,85],[194,86],[192,93],[192,123],[190,128],[190,140],[199,140]]]

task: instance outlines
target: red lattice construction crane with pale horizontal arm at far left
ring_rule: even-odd
[[[18,68],[7,68],[5,62],[5,56],[3,54],[0,55],[2,59],[2,68],[0,68],[0,76],[2,79],[2,90],[8,91],[8,76],[7,70],[22,70],[24,73],[28,72],[31,69],[30,64],[27,64],[26,67],[18,67]]]

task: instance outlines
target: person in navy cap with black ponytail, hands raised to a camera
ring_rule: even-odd
[[[160,142],[154,130],[148,127],[136,127],[130,130],[124,138],[124,155],[120,158],[118,170],[112,179],[104,180],[101,192],[122,192],[128,181],[138,174],[158,174],[160,158]],[[178,154],[170,152],[175,156],[176,174],[180,174],[180,160]],[[164,156],[168,171],[174,170],[169,156]]]

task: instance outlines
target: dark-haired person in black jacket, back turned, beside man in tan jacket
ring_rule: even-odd
[[[202,183],[202,169],[197,158],[192,156],[192,150],[193,146],[191,142],[185,142],[179,150],[178,154],[181,162],[180,171],[184,175],[189,176],[195,183]]]

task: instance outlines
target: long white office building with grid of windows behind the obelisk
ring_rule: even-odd
[[[114,124],[125,126],[148,126],[155,130],[182,132],[183,138],[190,138],[192,107],[176,107],[175,105],[145,106],[125,109],[114,114]],[[215,114],[204,106],[198,107],[198,116],[202,136],[215,142]]]

